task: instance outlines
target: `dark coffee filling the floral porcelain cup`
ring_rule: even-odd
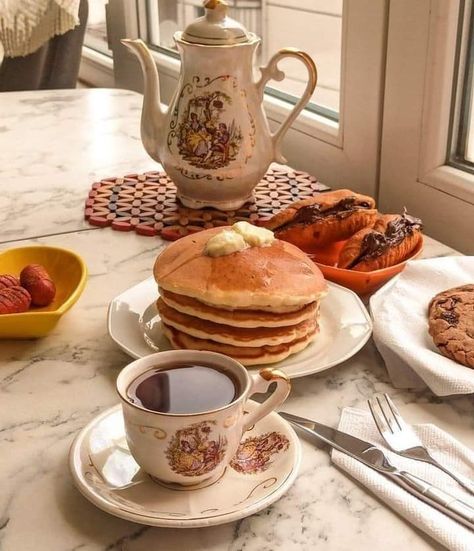
[[[239,382],[211,365],[176,363],[152,368],[127,388],[128,400],[158,413],[200,413],[232,403],[241,393]]]

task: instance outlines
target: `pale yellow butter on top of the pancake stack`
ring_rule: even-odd
[[[230,230],[222,230],[209,239],[204,247],[208,256],[224,256],[249,247],[264,247],[275,240],[273,232],[248,222],[236,222]]]

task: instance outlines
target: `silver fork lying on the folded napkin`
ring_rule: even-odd
[[[474,484],[465,476],[439,463],[423,446],[413,428],[405,423],[388,394],[376,394],[368,400],[370,413],[389,448],[403,457],[430,463],[441,469],[463,488],[474,494]]]

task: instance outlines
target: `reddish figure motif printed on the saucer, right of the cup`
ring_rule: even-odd
[[[240,443],[230,466],[243,474],[266,471],[272,464],[272,456],[286,451],[289,445],[288,438],[279,432],[250,436]]]

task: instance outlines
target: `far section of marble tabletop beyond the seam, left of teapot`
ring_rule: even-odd
[[[94,181],[160,169],[141,144],[140,95],[102,89],[35,94],[1,98],[0,243],[90,228],[84,202]]]

